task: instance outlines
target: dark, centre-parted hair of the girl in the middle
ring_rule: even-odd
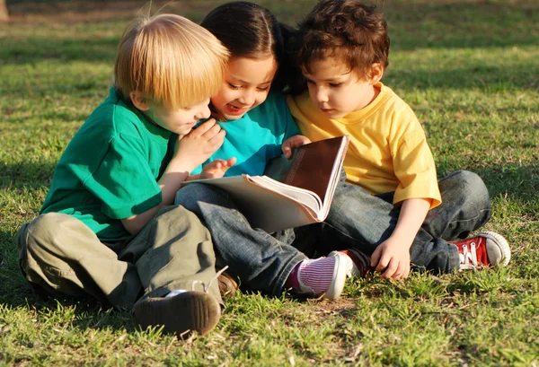
[[[245,1],[217,6],[200,22],[230,51],[230,57],[263,59],[275,57],[278,73],[272,90],[281,91],[286,85],[287,65],[285,38],[290,28],[279,23],[268,9]]]

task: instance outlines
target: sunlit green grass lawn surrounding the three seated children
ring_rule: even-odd
[[[392,0],[384,83],[416,111],[440,175],[465,169],[490,188],[486,229],[507,268],[376,276],[340,301],[240,293],[208,336],[139,331],[128,312],[44,302],[13,237],[38,213],[67,142],[107,94],[121,31],[144,3],[13,1],[0,25],[0,365],[539,365],[539,4]],[[180,1],[193,20],[222,1]],[[296,22],[314,0],[261,1]],[[154,6],[161,4],[155,2]]]

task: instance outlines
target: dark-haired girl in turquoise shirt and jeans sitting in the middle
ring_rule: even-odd
[[[287,65],[283,39],[287,27],[268,9],[247,2],[218,6],[201,25],[231,53],[225,80],[211,98],[213,115],[226,132],[225,143],[208,162],[221,160],[225,176],[261,175],[272,158],[281,153],[290,156],[296,146],[309,142],[299,135],[280,92],[284,83],[279,79]],[[189,185],[178,192],[176,204],[199,215],[208,226],[217,267],[228,266],[253,290],[278,295],[291,288],[296,294],[336,299],[354,267],[342,252],[308,259],[296,247],[308,241],[304,236],[309,231],[270,234],[252,228],[219,188]]]

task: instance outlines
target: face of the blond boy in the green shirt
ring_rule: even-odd
[[[157,125],[178,135],[189,134],[191,129],[202,118],[209,118],[209,98],[187,109],[169,109],[162,105],[149,102],[146,114]]]

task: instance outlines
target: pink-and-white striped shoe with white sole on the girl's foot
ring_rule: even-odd
[[[296,265],[285,286],[296,294],[322,296],[330,300],[340,297],[346,275],[353,267],[351,258],[339,253],[329,258],[305,259]]]

